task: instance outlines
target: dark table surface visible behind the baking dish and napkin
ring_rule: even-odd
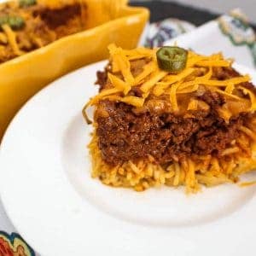
[[[207,9],[196,9],[189,5],[180,3],[166,2],[164,0],[153,0],[149,2],[136,2],[131,3],[134,6],[145,6],[150,9],[150,21],[155,22],[164,20],[166,18],[177,18],[180,20],[188,20],[196,26],[200,26],[209,20],[217,18],[221,14],[209,12]],[[253,26],[255,29],[255,25]]]

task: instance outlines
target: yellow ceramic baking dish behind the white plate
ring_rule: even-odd
[[[61,0],[43,1],[61,3]],[[129,7],[125,0],[83,1],[88,11],[84,32],[0,65],[0,139],[19,108],[46,84],[76,68],[107,58],[110,43],[126,49],[137,46],[148,20],[147,9]]]

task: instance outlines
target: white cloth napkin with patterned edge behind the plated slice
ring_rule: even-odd
[[[197,53],[211,55],[221,51],[239,64],[255,68],[256,38],[253,28],[239,10],[207,22],[192,32],[167,40],[165,45],[177,44]]]

